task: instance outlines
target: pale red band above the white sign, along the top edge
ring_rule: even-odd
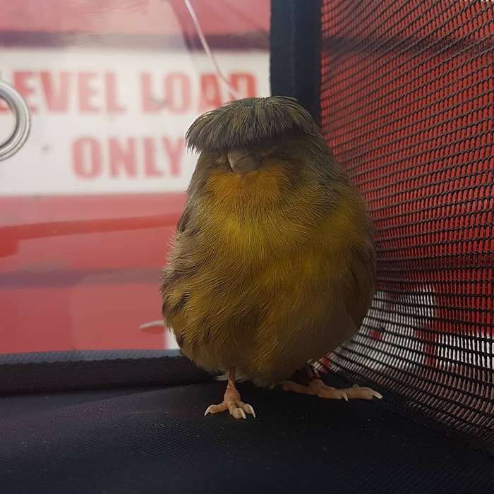
[[[191,0],[191,4],[205,35],[269,30],[267,0]],[[195,34],[183,0],[17,0],[4,2],[1,9],[0,31]]]

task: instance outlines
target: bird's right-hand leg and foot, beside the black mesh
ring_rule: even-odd
[[[296,381],[302,381],[300,384]],[[315,394],[320,398],[326,399],[373,399],[373,397],[382,398],[382,394],[371,390],[370,387],[347,387],[342,390],[337,390],[335,387],[327,386],[320,378],[320,375],[313,366],[307,364],[303,370],[297,370],[292,376],[292,380],[283,381],[282,387],[284,391],[294,391],[302,394]]]

